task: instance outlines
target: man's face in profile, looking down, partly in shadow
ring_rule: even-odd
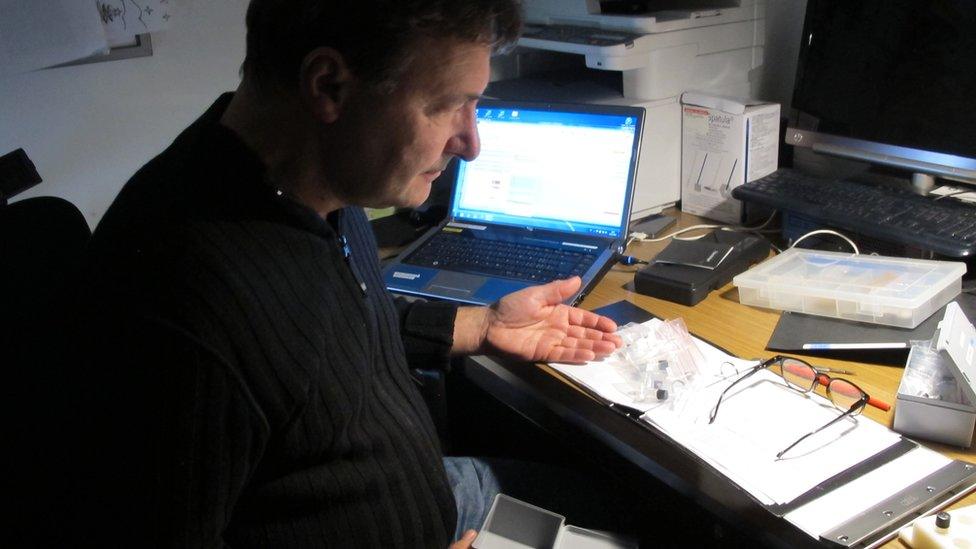
[[[346,204],[414,207],[452,157],[473,160],[478,97],[488,85],[488,46],[429,41],[396,90],[357,85],[330,128],[323,169]]]

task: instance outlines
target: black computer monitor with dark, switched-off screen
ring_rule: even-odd
[[[808,0],[785,141],[976,183],[972,0]]]

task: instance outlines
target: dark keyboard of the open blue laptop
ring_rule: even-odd
[[[544,283],[572,275],[582,276],[596,257],[595,250],[547,248],[442,232],[403,262]]]

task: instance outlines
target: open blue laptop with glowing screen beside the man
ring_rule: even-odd
[[[622,253],[644,109],[482,100],[481,154],[457,162],[445,220],[383,270],[395,293],[486,305],[536,284],[583,280]]]

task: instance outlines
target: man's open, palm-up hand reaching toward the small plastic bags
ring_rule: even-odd
[[[458,310],[454,352],[490,353],[526,361],[586,362],[620,346],[609,318],[563,304],[579,277],[533,286],[490,308]]]

